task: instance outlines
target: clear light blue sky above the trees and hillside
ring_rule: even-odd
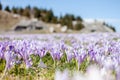
[[[120,32],[120,0],[1,0],[4,6],[52,9],[56,16],[66,13],[83,19],[104,20]]]

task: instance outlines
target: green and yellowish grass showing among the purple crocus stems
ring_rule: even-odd
[[[56,69],[61,71],[68,69],[71,72],[78,70],[78,65],[75,59],[72,59],[70,62],[67,62],[66,55],[64,55],[60,61],[55,61],[47,53],[41,60],[47,65],[47,68],[38,67],[40,57],[38,55],[31,55],[33,65],[31,68],[26,69],[25,63],[14,65],[9,71],[6,72],[6,75],[2,80],[54,80],[54,74]],[[85,59],[84,62],[80,65],[80,71],[85,72],[87,66],[89,65],[88,59]],[[5,61],[0,60],[0,77],[3,75],[5,68]]]

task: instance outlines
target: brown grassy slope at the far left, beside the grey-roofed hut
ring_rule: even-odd
[[[0,31],[9,31],[21,19],[19,15],[0,11]]]

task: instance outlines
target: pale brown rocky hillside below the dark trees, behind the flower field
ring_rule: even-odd
[[[25,20],[25,21],[24,21]],[[24,21],[24,22],[23,22]],[[22,31],[19,31],[20,33],[48,33],[48,32],[68,32],[68,33],[91,33],[91,32],[114,32],[111,28],[109,28],[107,25],[105,25],[103,22],[100,21],[94,21],[94,22],[85,22],[83,21],[82,24],[84,25],[84,28],[81,30],[72,30],[69,29],[67,26],[61,26],[60,24],[55,23],[46,23],[41,20],[37,20],[36,22],[32,21],[32,19],[28,19],[26,17],[9,13],[6,11],[0,11],[0,32],[10,32],[15,30],[17,26],[20,26],[18,24],[21,24],[22,26],[26,26],[27,23],[29,23],[25,29]],[[42,25],[41,25],[42,22]],[[76,22],[77,23],[77,22]],[[32,29],[30,29],[31,25],[33,25]],[[35,29],[35,25],[40,26],[38,27],[38,30]],[[44,26],[43,26],[44,25]],[[39,28],[43,29],[39,29]],[[46,28],[44,28],[46,27]],[[28,30],[29,28],[29,30]],[[14,32],[18,32],[14,31]]]

